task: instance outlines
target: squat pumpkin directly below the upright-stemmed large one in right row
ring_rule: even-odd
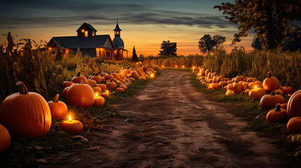
[[[271,94],[265,94],[260,99],[260,106],[267,109],[274,109],[276,104],[284,104],[286,103],[286,99],[280,94],[276,94],[272,92]]]

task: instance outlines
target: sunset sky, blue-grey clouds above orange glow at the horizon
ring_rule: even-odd
[[[128,55],[133,46],[138,55],[158,55],[162,41],[177,43],[178,55],[201,54],[198,41],[204,34],[226,36],[229,52],[239,25],[230,24],[222,11],[213,9],[223,1],[234,0],[45,0],[6,1],[0,6],[0,34],[10,30],[15,40],[31,38],[37,43],[53,36],[76,36],[83,22],[91,24],[97,35],[114,38],[116,20]],[[12,27],[12,28],[10,28]],[[251,50],[253,32],[236,46]],[[0,43],[6,41],[0,37]]]

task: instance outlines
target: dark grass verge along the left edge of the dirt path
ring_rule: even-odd
[[[160,76],[160,72],[156,73],[156,77]],[[99,118],[104,120],[102,125],[105,126],[106,118],[126,118],[121,116],[114,106],[126,101],[129,97],[135,95],[140,90],[147,87],[147,84],[152,80],[147,79],[136,80],[132,83],[122,94],[115,92],[110,94],[106,99],[104,107],[91,107],[83,109],[81,107],[68,106],[69,111],[73,111],[74,118],[84,122],[84,118]],[[73,138],[77,134],[68,134],[60,130],[60,123],[62,120],[55,119],[52,121],[51,130],[44,137],[37,139],[25,139],[20,137],[11,137],[11,146],[8,151],[0,154],[0,167],[38,167],[39,162],[36,160],[46,158],[49,155],[71,153],[74,150],[90,147],[88,142],[81,141],[79,138]],[[93,129],[93,128],[91,128]],[[85,137],[88,128],[85,128],[79,135]],[[40,148],[41,147],[41,148]]]

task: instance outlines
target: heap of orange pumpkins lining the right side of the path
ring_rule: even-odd
[[[267,73],[267,78],[260,81],[256,78],[236,76],[235,78],[225,78],[209,69],[194,67],[192,73],[196,73],[196,78],[208,87],[208,90],[224,89],[226,95],[248,94],[251,99],[260,100],[260,107],[272,109],[267,113],[267,121],[275,123],[290,118],[287,124],[289,133],[301,132],[301,90],[294,93],[293,87],[281,87],[279,80],[272,76],[272,72]],[[286,104],[285,96],[290,97]]]

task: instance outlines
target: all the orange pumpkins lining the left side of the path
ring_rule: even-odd
[[[135,80],[146,80],[154,76],[152,67],[142,66],[138,69],[125,69],[121,73],[97,73],[86,78],[77,73],[72,81],[62,84],[63,99],[68,105],[104,106],[104,97],[111,92],[124,92]],[[58,101],[57,94],[53,101],[36,92],[28,92],[24,83],[16,83],[20,92],[6,97],[0,106],[0,153],[6,151],[11,144],[11,134],[16,137],[36,138],[46,135],[51,128],[53,118],[66,118],[67,105]],[[105,92],[107,91],[107,92]],[[60,128],[70,133],[79,133],[83,125],[78,120],[64,120]]]

